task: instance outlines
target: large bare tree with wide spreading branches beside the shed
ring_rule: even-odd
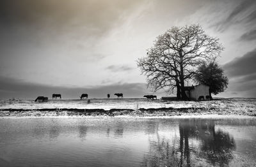
[[[177,98],[187,99],[184,82],[193,78],[203,62],[215,60],[221,50],[219,39],[205,34],[200,25],[172,27],[157,37],[137,64],[153,91],[176,87]]]

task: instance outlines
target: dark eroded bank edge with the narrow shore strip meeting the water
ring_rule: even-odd
[[[246,115],[255,117],[254,112],[239,112],[221,110],[220,108],[140,108],[133,109],[79,109],[79,108],[39,108],[39,109],[16,109],[4,108],[0,110],[0,117],[49,117],[49,116],[106,116],[115,117],[126,115],[131,117],[158,117],[158,116],[177,116],[177,115]]]

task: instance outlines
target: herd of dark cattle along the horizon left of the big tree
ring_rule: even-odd
[[[123,96],[123,94],[122,93],[115,93],[114,94],[115,96],[117,96],[117,98],[119,99],[119,98],[124,98],[124,96]],[[110,94],[108,94],[107,95],[108,96],[108,99],[110,98]],[[157,97],[156,96],[154,96],[154,95],[145,95],[145,96],[143,96],[144,98],[147,98],[147,99],[157,99]],[[60,98],[61,99],[61,94],[52,94],[52,99],[57,99],[57,98]],[[81,94],[81,96],[80,96],[80,99],[84,99],[84,98],[86,98],[86,99],[88,99],[88,94]],[[44,96],[38,96],[36,99],[35,99],[35,101],[41,101],[41,102],[43,102],[43,101],[48,101],[48,98],[47,97],[44,97]]]

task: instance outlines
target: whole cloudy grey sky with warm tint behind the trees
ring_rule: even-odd
[[[149,94],[136,59],[168,28],[189,24],[225,47],[229,85],[218,96],[255,97],[254,0],[2,0],[0,98]]]

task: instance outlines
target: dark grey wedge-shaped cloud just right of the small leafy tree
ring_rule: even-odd
[[[256,48],[224,65],[228,76],[237,77],[255,74]]]

